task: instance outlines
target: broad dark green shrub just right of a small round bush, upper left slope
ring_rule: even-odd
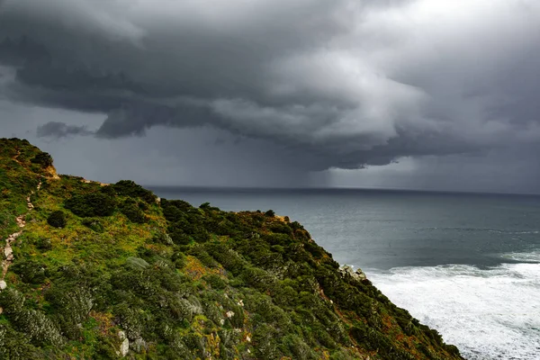
[[[116,210],[116,200],[104,193],[94,192],[74,195],[64,202],[64,206],[81,217],[111,216]]]

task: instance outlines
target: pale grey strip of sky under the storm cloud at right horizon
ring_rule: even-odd
[[[530,154],[538,145],[482,155],[407,157],[391,166],[361,172],[334,171],[334,184],[482,193],[540,193],[540,168]]]

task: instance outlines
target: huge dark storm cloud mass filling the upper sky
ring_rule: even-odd
[[[540,140],[533,0],[8,0],[0,35],[5,94],[100,138],[211,125],[312,170]]]

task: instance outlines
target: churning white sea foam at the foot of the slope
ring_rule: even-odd
[[[536,255],[535,255],[536,254]],[[400,267],[368,278],[470,360],[540,359],[540,253],[527,264]]]

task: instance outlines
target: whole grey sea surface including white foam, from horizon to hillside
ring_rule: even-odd
[[[151,186],[150,186],[151,187]],[[540,359],[540,196],[381,190],[156,188],[298,220],[340,264],[470,360]]]

